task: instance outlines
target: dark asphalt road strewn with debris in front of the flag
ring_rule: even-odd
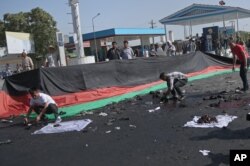
[[[250,93],[235,94],[241,86],[238,73],[189,83],[186,99],[160,104],[151,95],[95,110],[93,115],[71,119],[93,120],[86,130],[62,134],[31,135],[40,127],[25,130],[22,125],[0,128],[0,162],[4,166],[223,166],[229,165],[230,149],[250,149]],[[203,100],[230,91],[232,100]],[[153,101],[151,104],[150,101]],[[147,110],[161,107],[149,113]],[[98,114],[106,112],[108,116]],[[238,116],[227,128],[186,128],[195,115]],[[20,118],[14,119],[14,123]],[[110,123],[112,122],[112,123]],[[3,127],[8,124],[0,124]],[[120,127],[117,130],[116,127]],[[111,133],[106,133],[111,131]],[[210,150],[203,156],[199,150]]]

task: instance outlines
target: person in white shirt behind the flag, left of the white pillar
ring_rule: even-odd
[[[46,67],[58,67],[59,66],[59,55],[56,52],[54,46],[49,45],[48,54],[45,56]]]

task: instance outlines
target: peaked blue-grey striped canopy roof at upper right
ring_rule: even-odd
[[[201,25],[250,17],[250,10],[219,5],[193,4],[160,20],[164,25]]]

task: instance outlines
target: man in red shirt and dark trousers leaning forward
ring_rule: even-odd
[[[242,45],[236,44],[232,40],[229,42],[229,46],[233,54],[233,71],[235,70],[236,60],[238,59],[240,61],[240,77],[243,82],[243,88],[241,90],[245,92],[249,88],[247,81],[247,71],[249,66],[248,53]]]

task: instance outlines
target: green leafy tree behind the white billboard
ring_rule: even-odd
[[[45,55],[48,45],[56,43],[56,21],[41,8],[4,14],[3,21],[0,20],[0,46],[6,46],[5,31],[31,33],[36,55]]]

